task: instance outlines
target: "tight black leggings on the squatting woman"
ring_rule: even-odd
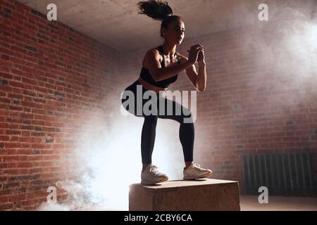
[[[135,105],[137,105],[137,85],[139,84],[138,81],[134,82],[130,86],[128,86],[125,91],[132,91],[135,95]],[[140,87],[140,86],[139,86]],[[144,94],[144,91],[147,91],[147,89],[144,89],[142,86],[142,96]],[[154,93],[154,92],[153,92]],[[156,94],[157,101],[156,101],[156,109],[158,110],[155,115],[145,115],[142,110],[142,115],[137,113],[137,107],[135,107],[134,110],[132,108],[124,107],[125,110],[127,110],[132,115],[135,115],[137,117],[144,117],[144,124],[142,127],[142,136],[141,136],[141,155],[142,155],[142,163],[143,164],[149,164],[151,163],[151,157],[152,152],[154,148],[154,141],[156,136],[156,123],[157,119],[170,119],[175,120],[180,123],[180,131],[179,131],[179,137],[180,137],[180,143],[182,144],[182,150],[184,153],[184,159],[185,162],[192,162],[193,161],[193,149],[194,149],[194,122],[192,120],[192,112],[188,108],[183,107],[179,103],[176,103],[175,101],[171,101],[168,98],[163,97],[161,94]],[[121,98],[121,102],[124,103],[126,100],[128,100],[129,97]],[[142,107],[144,103],[149,101],[148,99],[142,99]],[[171,104],[173,105],[173,115],[168,115],[167,110],[163,113],[159,113],[159,104],[165,103],[165,109],[167,109],[167,105]],[[176,106],[181,108],[181,113],[175,113]],[[179,115],[180,114],[180,115]],[[187,118],[187,119],[185,119]],[[185,122],[186,120],[186,122]]]

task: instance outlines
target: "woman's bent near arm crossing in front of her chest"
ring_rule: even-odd
[[[150,49],[147,51],[145,57],[149,67],[149,72],[156,82],[173,77],[182,70],[193,66],[193,63],[189,62],[189,60],[182,60],[180,64],[170,65],[166,68],[162,68],[159,60],[160,54],[156,49]]]

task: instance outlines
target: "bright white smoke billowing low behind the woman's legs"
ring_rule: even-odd
[[[99,210],[128,210],[129,185],[140,182],[144,119],[117,115],[111,122],[101,124],[104,115],[92,113],[95,119],[82,126],[82,134],[76,134],[81,137],[74,150],[78,161],[74,174],[78,178],[56,184],[67,191],[67,199],[60,204],[43,203],[38,210],[93,210],[97,206]],[[153,161],[170,179],[180,178],[182,147],[168,139],[168,136],[178,136],[179,124],[166,123],[158,122]]]

